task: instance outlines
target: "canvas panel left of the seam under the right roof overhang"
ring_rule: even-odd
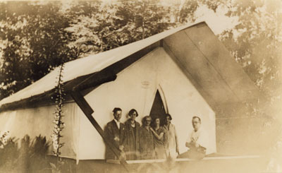
[[[212,93],[212,98],[216,103],[228,102],[231,101],[231,98],[235,102],[238,101],[216,68],[209,63],[184,31],[167,37],[164,42],[185,71],[190,73],[191,78],[207,93]]]

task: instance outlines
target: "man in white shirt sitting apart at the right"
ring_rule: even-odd
[[[200,117],[192,117],[193,131],[190,133],[185,145],[189,150],[179,155],[179,158],[202,159],[207,153],[209,138],[207,133],[201,129]]]

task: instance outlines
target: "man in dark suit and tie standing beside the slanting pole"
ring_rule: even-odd
[[[121,108],[115,107],[113,110],[114,119],[112,121],[109,121],[108,124],[106,124],[105,128],[105,137],[108,139],[108,141],[118,150],[120,150],[121,153],[123,152],[124,143],[125,143],[125,125],[120,122],[121,119]],[[121,155],[119,156],[121,157]],[[106,160],[118,160],[119,158],[116,157],[114,152],[109,148],[109,146],[106,145]]]

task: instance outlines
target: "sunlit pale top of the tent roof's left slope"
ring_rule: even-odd
[[[67,82],[80,76],[85,76],[87,74],[101,71],[103,68],[114,64],[117,61],[120,61],[121,59],[124,59],[130,54],[133,54],[139,51],[140,49],[143,49],[148,45],[153,44],[154,42],[158,42],[159,40],[163,39],[164,37],[167,37],[168,35],[172,35],[175,32],[188,28],[191,25],[194,24],[183,25],[179,28],[167,30],[157,35],[153,35],[152,37],[148,37],[144,40],[139,40],[137,42],[117,47],[106,52],[102,52],[99,54],[91,54],[84,58],[68,61],[63,68],[62,80],[63,82]],[[56,77],[59,76],[59,70],[59,67],[55,68],[53,71],[48,73],[43,78],[37,80],[35,83],[32,83],[26,88],[23,88],[23,90],[20,90],[17,93],[4,98],[0,101],[0,106],[7,103],[23,100],[35,95],[39,95],[55,88],[57,82]]]

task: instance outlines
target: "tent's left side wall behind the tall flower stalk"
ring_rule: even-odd
[[[45,136],[49,142],[49,153],[53,150],[52,131],[54,130],[55,106],[37,107],[31,109],[17,109],[14,111],[0,113],[0,132],[9,131],[9,136],[23,138],[25,135],[31,139],[35,136]],[[68,103],[63,107],[63,122],[66,124],[62,131],[61,143],[65,143],[61,148],[61,156],[76,158],[78,151],[79,117],[76,115],[78,107],[75,103]]]

